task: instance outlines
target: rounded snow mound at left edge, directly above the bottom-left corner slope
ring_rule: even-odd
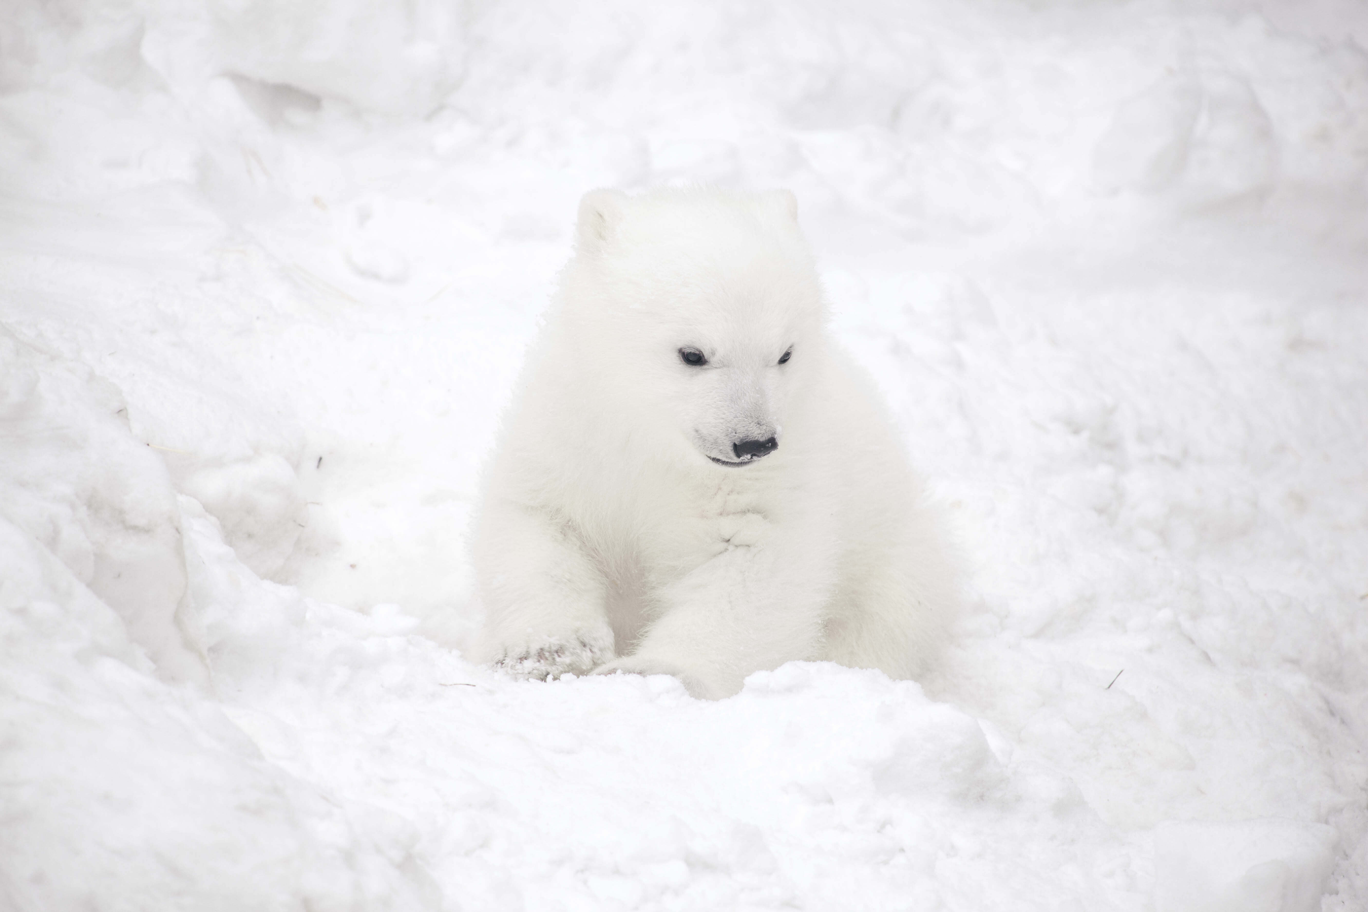
[[[129,406],[85,365],[63,364],[0,328],[0,515],[73,582],[118,611],[129,636],[171,677],[204,669],[176,626],[185,562],[175,492],[161,459],[129,433]],[[52,584],[11,584],[38,598]],[[66,576],[66,574],[59,574]],[[93,599],[92,599],[93,600]],[[103,606],[101,606],[103,607]]]

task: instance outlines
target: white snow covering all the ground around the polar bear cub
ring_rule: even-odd
[[[0,908],[1368,907],[1368,14],[0,8]],[[973,567],[934,678],[513,682],[579,196],[787,186]]]

